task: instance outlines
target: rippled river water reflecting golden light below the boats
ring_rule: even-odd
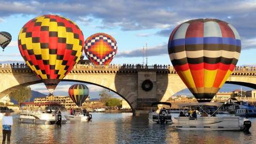
[[[175,114],[174,114],[175,115]],[[93,121],[56,125],[20,123],[12,127],[12,143],[255,143],[256,119],[251,118],[251,134],[229,131],[183,131],[149,124],[147,116],[131,113],[92,113]],[[1,120],[0,120],[1,121]],[[2,121],[1,121],[2,123]],[[2,131],[0,132],[2,139]]]

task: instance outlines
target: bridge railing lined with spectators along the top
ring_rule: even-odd
[[[0,70],[11,70],[11,69],[29,69],[27,65],[7,65],[7,64],[0,64]],[[156,70],[170,70],[175,71],[172,66],[145,66],[145,65],[110,65],[110,66],[93,66],[93,65],[81,65],[77,64],[74,66],[73,70],[89,70],[89,69],[131,69],[131,70],[139,70],[139,69],[156,69]],[[235,67],[233,73],[256,73],[256,67]]]

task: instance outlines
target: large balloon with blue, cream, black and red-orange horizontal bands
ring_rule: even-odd
[[[169,56],[198,102],[209,102],[236,66],[241,39],[236,29],[218,19],[190,20],[169,38]]]

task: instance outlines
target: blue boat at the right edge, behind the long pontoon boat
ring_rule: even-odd
[[[247,101],[241,101],[235,115],[244,117],[256,117],[256,108],[250,105],[250,103]]]

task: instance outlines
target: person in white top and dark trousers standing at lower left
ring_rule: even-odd
[[[9,111],[6,111],[2,119],[3,143],[5,143],[6,135],[7,135],[7,143],[11,143],[12,125],[13,125],[12,116],[10,116]]]

